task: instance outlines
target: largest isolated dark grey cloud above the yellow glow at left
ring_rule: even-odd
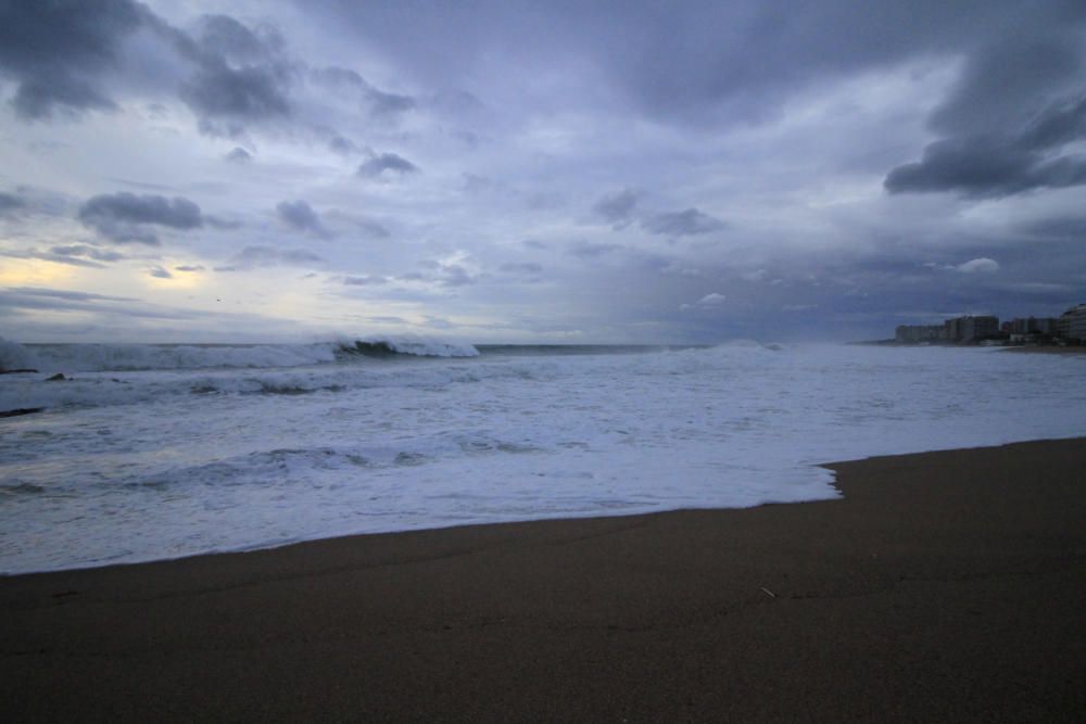
[[[156,245],[159,237],[149,227],[188,231],[203,226],[200,207],[188,199],[136,195],[127,191],[92,196],[79,208],[87,228],[117,243]]]

